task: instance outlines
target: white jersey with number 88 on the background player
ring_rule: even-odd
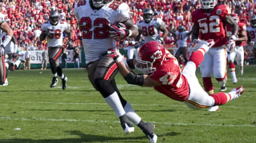
[[[148,24],[145,21],[138,23],[138,28],[142,31],[142,35],[145,37],[145,42],[157,41],[160,38],[159,27],[163,24],[165,23],[160,18],[152,19]]]

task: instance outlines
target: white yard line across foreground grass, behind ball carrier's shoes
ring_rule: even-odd
[[[93,120],[77,120],[77,119],[50,119],[50,118],[10,118],[9,116],[7,117],[0,117],[0,121],[57,121],[57,122],[119,122],[119,121],[104,121],[104,120],[98,120],[98,121],[93,121]],[[188,125],[194,125],[194,126],[210,126],[210,127],[252,127],[256,128],[256,125],[222,125],[222,124],[196,124],[196,123],[182,123],[182,122],[152,122],[154,124],[163,124],[163,125],[183,125],[183,126],[188,126]]]

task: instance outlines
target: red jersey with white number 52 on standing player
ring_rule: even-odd
[[[199,25],[199,38],[214,39],[213,47],[227,44],[225,24],[223,23],[227,15],[230,15],[227,5],[217,5],[210,13],[204,13],[202,8],[195,10],[192,13],[192,22]]]

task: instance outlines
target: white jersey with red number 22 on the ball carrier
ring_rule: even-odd
[[[80,0],[74,6],[74,15],[79,19],[85,62],[99,59],[108,48],[116,49],[116,41],[110,38],[108,30],[116,22],[130,19],[130,8],[126,3],[110,2],[99,10],[93,10],[90,0]]]

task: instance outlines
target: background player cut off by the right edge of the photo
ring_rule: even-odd
[[[254,64],[256,63],[256,15],[251,16],[251,25],[246,28],[248,41],[247,43],[251,45],[252,52],[254,53]]]

